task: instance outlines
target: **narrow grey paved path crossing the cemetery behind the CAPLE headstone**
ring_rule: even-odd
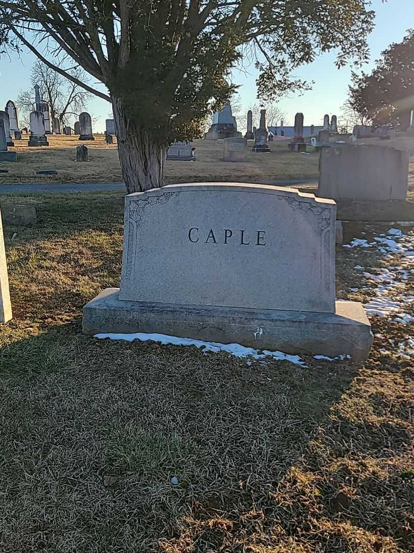
[[[245,181],[240,181],[245,182]],[[257,181],[256,184],[270,184],[273,186],[317,185],[317,180],[281,180]],[[98,192],[105,190],[125,190],[123,182],[87,182],[75,184],[73,182],[52,184],[0,184],[0,194],[36,194],[44,192]]]

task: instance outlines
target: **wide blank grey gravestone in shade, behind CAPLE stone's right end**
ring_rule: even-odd
[[[407,186],[404,150],[344,144],[321,151],[318,196],[354,202],[405,200]]]

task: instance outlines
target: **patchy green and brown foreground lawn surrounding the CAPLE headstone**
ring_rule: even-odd
[[[414,364],[392,346],[412,324],[372,317],[360,368],[83,336],[82,306],[119,285],[123,195],[2,200],[39,217],[4,227],[2,553],[414,550]],[[355,266],[384,263],[337,247],[337,298],[366,301]]]

